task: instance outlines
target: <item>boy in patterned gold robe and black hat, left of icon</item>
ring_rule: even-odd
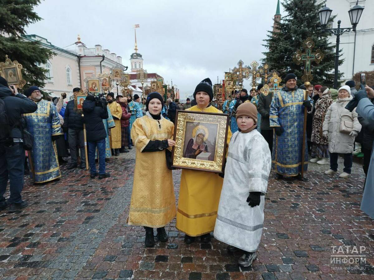
[[[145,246],[153,247],[153,228],[157,228],[158,240],[166,242],[165,225],[175,217],[173,177],[165,155],[175,141],[174,124],[161,115],[162,96],[150,93],[145,105],[146,115],[137,118],[131,128],[136,159],[129,224],[144,226]]]

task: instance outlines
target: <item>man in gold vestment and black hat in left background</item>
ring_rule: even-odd
[[[107,101],[110,113],[113,116],[115,127],[110,130],[110,147],[114,149],[114,155],[119,156],[119,149],[121,148],[121,116],[122,108],[116,100],[114,100],[114,93],[108,92]]]

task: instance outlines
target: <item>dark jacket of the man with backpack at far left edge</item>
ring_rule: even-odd
[[[10,126],[15,125],[16,122],[21,119],[21,114],[34,113],[38,109],[38,105],[33,100],[28,99],[21,93],[13,96],[9,87],[1,84],[0,98],[5,103]],[[13,130],[10,131],[10,137],[22,138],[21,130],[19,130],[19,128],[22,128],[22,124],[16,125]]]

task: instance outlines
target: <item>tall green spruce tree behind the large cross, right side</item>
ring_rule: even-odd
[[[303,82],[304,63],[297,65],[292,61],[292,56],[297,50],[304,52],[303,42],[307,37],[312,37],[315,42],[313,50],[321,49],[324,58],[319,65],[312,62],[312,84],[321,84],[328,87],[334,85],[335,44],[329,44],[329,33],[323,32],[319,23],[319,10],[324,7],[324,2],[317,4],[317,0],[283,0],[282,6],[286,15],[282,16],[278,24],[279,32],[268,31],[264,41],[268,52],[263,62],[269,64],[271,69],[276,69],[280,77],[287,73],[294,73],[298,77],[299,85]],[[331,16],[332,21],[335,16]],[[343,60],[339,60],[339,65]],[[343,73],[338,73],[338,79]]]

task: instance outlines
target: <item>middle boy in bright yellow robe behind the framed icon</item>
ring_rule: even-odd
[[[196,86],[193,97],[197,105],[188,108],[186,111],[222,113],[222,111],[210,105],[213,99],[213,89],[209,78]],[[201,135],[199,136],[199,134]],[[201,131],[200,133],[196,131],[196,144],[199,147],[197,145],[195,147],[198,149],[200,148],[199,143],[204,143],[197,140],[202,135]],[[227,143],[230,143],[230,139],[231,131],[229,129]],[[197,236],[200,236],[202,242],[210,242],[210,232],[214,230],[222,184],[223,178],[217,173],[182,170],[175,227],[186,234],[184,242],[187,244],[192,243]]]

